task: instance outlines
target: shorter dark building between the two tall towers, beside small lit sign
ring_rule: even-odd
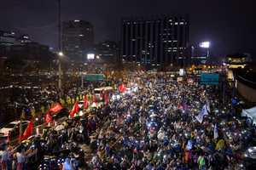
[[[119,59],[119,44],[105,40],[94,46],[97,64],[116,64]]]

